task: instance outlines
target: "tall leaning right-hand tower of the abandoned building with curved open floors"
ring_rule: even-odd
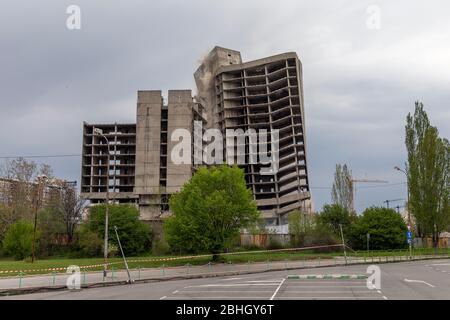
[[[215,47],[195,72],[195,80],[208,124],[224,137],[229,129],[278,130],[276,173],[261,174],[264,165],[250,164],[248,154],[241,166],[267,224],[284,223],[285,214],[296,209],[310,211],[302,65],[297,54],[242,63],[239,52]],[[235,146],[225,138],[225,155]],[[270,139],[266,149],[271,149]]]

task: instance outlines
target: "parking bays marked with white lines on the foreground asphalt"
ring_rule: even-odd
[[[380,290],[368,289],[360,275],[285,275],[225,278],[190,285],[162,297],[163,300],[385,300]]]

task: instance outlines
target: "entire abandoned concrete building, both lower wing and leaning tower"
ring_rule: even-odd
[[[239,164],[268,225],[284,224],[293,210],[310,211],[302,65],[297,55],[242,62],[238,51],[215,47],[194,78],[195,97],[190,90],[169,90],[167,104],[161,91],[139,91],[136,124],[84,123],[82,195],[94,203],[104,202],[109,188],[114,201],[139,205],[142,219],[162,218],[169,213],[170,195],[192,176],[199,157],[192,148],[193,161],[174,163],[170,155],[178,141],[173,141],[173,134],[185,129],[195,144],[194,122],[200,121],[203,130],[222,133],[227,160],[233,159],[230,152],[236,153],[228,131],[266,130],[269,134],[267,141],[257,145],[278,156],[277,170],[267,174],[261,171],[265,164],[248,161],[253,152],[249,136],[243,146],[246,161]],[[109,140],[109,172],[106,141],[94,128],[102,129]],[[278,150],[270,135],[274,132],[279,136]]]

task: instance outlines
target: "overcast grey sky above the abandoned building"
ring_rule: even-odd
[[[331,201],[336,163],[389,181],[357,185],[358,210],[405,198],[393,167],[414,101],[450,136],[450,3],[411,2],[2,0],[0,156],[79,154],[83,121],[135,122],[137,90],[194,89],[215,45],[244,61],[295,51],[316,208]],[[81,30],[66,27],[71,4]],[[79,157],[34,160],[79,180]]]

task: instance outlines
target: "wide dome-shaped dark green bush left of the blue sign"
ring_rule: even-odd
[[[367,234],[370,248],[374,250],[401,249],[407,246],[407,227],[402,217],[393,209],[371,207],[352,224],[348,238],[354,249],[365,249]]]

